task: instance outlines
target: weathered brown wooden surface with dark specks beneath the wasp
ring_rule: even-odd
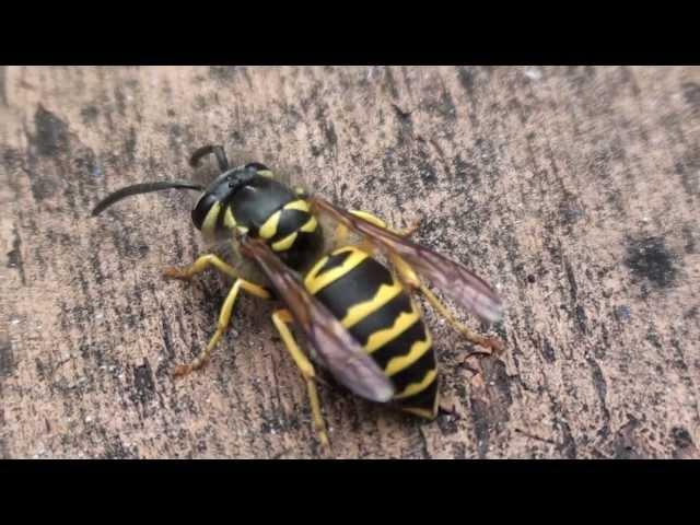
[[[700,457],[698,68],[10,67],[0,116],[0,457],[319,455],[268,304],[171,377],[226,291],[160,276],[203,247],[183,196],[89,217],[208,142],[423,218],[506,301],[502,361],[427,314],[433,423],[322,386],[335,456]]]

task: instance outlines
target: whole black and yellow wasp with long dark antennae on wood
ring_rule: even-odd
[[[214,268],[234,279],[209,345],[176,375],[199,369],[229,326],[241,291],[260,299],[278,299],[272,322],[304,377],[314,425],[328,444],[312,361],[354,394],[372,401],[433,419],[439,405],[439,374],[428,327],[412,294],[421,293],[468,340],[498,350],[498,339],[475,334],[458,323],[423,284],[431,281],[467,311],[489,322],[502,315],[495,292],[462,264],[409,240],[415,229],[395,231],[362,211],[346,211],[318,196],[292,189],[260,163],[232,167],[221,145],[206,145],[190,158],[197,167],[215,158],[220,174],[208,186],[187,180],[137,184],[103,199],[97,215],[120,199],[162,189],[201,191],[192,211],[195,226],[207,240],[223,240],[233,254],[252,260],[262,281],[247,279],[229,260],[210,253],[191,266],[168,268],[177,279]],[[319,218],[336,224],[335,247],[324,248]],[[349,243],[349,235],[359,238]],[[374,256],[381,250],[389,267]],[[329,252],[329,253],[328,253]],[[420,277],[419,277],[420,276]],[[310,360],[300,349],[290,325],[310,343]]]

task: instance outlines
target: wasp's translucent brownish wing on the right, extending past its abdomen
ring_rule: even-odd
[[[460,262],[372,224],[337,208],[325,199],[314,197],[312,200],[320,211],[369,238],[381,248],[400,256],[418,273],[428,278],[469,312],[490,322],[497,322],[501,318],[503,304],[493,289]]]

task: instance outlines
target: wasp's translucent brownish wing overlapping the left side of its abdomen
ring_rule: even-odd
[[[243,237],[241,252],[262,269],[313,345],[322,364],[350,390],[373,401],[386,402],[394,385],[360,343],[304,288],[296,275],[259,240]]]

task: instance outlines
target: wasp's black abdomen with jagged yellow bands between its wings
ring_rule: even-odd
[[[319,260],[304,285],[363,346],[394,383],[394,400],[434,418],[438,368],[418,305],[392,272],[365,252],[346,246]]]

